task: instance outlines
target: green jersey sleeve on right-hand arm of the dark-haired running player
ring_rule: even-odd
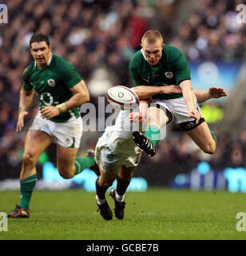
[[[73,86],[76,86],[77,83],[81,82],[82,80],[75,67],[69,63],[64,64],[62,69],[62,77],[69,89],[73,88]]]

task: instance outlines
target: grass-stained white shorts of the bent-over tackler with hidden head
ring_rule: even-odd
[[[122,138],[121,133],[106,127],[98,139],[95,161],[107,174],[117,174],[121,166],[137,167],[142,150],[133,142],[132,132],[129,138]]]

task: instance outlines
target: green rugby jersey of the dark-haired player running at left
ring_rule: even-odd
[[[23,73],[24,90],[34,89],[38,93],[39,110],[42,106],[57,106],[73,96],[71,88],[81,82],[82,78],[75,67],[65,59],[52,54],[50,64],[38,70],[36,62],[32,62]],[[80,116],[79,108],[66,111],[57,117],[50,118],[54,122],[65,122],[72,115]]]

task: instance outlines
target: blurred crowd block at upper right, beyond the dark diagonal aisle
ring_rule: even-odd
[[[191,61],[235,62],[245,58],[246,28],[237,22],[240,0],[203,0],[179,26],[169,44],[177,46]]]

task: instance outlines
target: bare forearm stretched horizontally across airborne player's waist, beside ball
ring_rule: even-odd
[[[156,94],[180,94],[179,86],[136,86],[134,91],[140,99],[149,99]]]

